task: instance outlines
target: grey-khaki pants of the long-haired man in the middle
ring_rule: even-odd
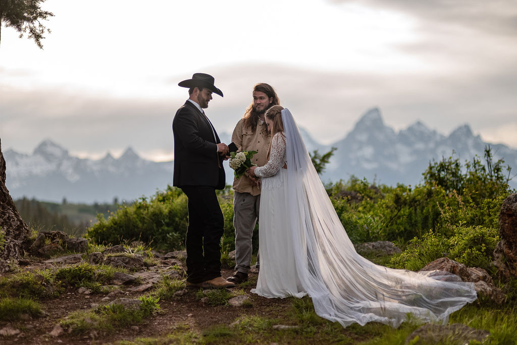
[[[248,273],[251,264],[253,229],[260,211],[260,195],[234,192],[235,270]],[[258,263],[258,255],[257,255]],[[257,265],[258,266],[258,265]]]

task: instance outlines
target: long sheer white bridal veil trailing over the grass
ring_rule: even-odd
[[[376,321],[396,327],[407,313],[423,321],[446,323],[450,313],[476,300],[473,283],[389,269],[357,254],[288,109],[282,110],[282,121],[288,230],[294,239],[298,276],[317,315],[343,326]]]

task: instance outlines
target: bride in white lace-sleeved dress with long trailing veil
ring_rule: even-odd
[[[408,313],[446,323],[476,300],[473,283],[390,269],[357,254],[291,113],[273,106],[266,123],[269,160],[250,169],[262,181],[260,272],[251,292],[269,298],[308,294],[317,315],[343,326],[376,321],[396,327]]]

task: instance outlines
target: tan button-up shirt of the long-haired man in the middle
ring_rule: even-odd
[[[267,130],[263,129],[260,120],[258,121],[257,130],[253,132],[250,128],[245,128],[244,119],[240,119],[233,130],[232,142],[237,145],[239,150],[257,151],[251,159],[253,164],[262,166],[267,163],[267,152],[269,150],[269,144],[271,144],[271,135]],[[239,179],[234,178],[233,190],[240,193],[259,195],[260,185],[257,186],[255,182],[252,182],[246,175],[243,175]]]

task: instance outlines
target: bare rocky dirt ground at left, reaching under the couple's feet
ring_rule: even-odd
[[[59,326],[60,320],[76,310],[87,310],[102,304],[110,303],[120,298],[136,300],[143,295],[153,292],[163,275],[169,275],[181,279],[181,270],[184,269],[184,252],[169,253],[165,256],[156,254],[155,265],[146,267],[138,263],[118,263],[136,270],[131,274],[116,274],[111,285],[105,287],[111,290],[109,293],[92,293],[84,287],[68,286],[63,293],[53,299],[41,299],[44,315],[42,317],[23,317],[23,320],[14,322],[0,322],[0,342],[4,344],[41,344],[41,343],[110,343],[120,340],[133,340],[142,337],[159,337],[171,333],[177,327],[183,327],[193,331],[201,331],[212,325],[221,323],[230,324],[241,315],[263,315],[276,318],[283,309],[288,308],[287,300],[278,299],[274,305],[267,299],[251,294],[256,281],[256,271],[250,273],[250,283],[244,288],[245,294],[229,301],[229,305],[211,306],[199,298],[199,290],[180,289],[170,301],[160,301],[160,310],[154,316],[149,317],[143,323],[121,328],[110,332],[91,331],[83,334],[75,334],[72,328]],[[95,255],[94,255],[95,256]],[[129,257],[102,255],[103,261],[117,264],[119,260]],[[138,258],[138,256],[136,256]],[[89,256],[92,258],[92,255]],[[99,259],[99,257],[97,257]],[[84,255],[73,254],[54,259],[23,259],[18,261],[19,272],[36,271],[41,269],[56,269],[65,265],[73,265],[84,262]],[[138,259],[134,261],[139,261]],[[179,270],[178,270],[179,268]],[[223,277],[229,277],[232,269],[223,269]],[[15,272],[9,273],[15,274]],[[8,275],[9,275],[8,274]],[[240,289],[240,288],[234,288]],[[245,306],[242,301],[248,300]],[[71,334],[69,334],[69,332]]]

